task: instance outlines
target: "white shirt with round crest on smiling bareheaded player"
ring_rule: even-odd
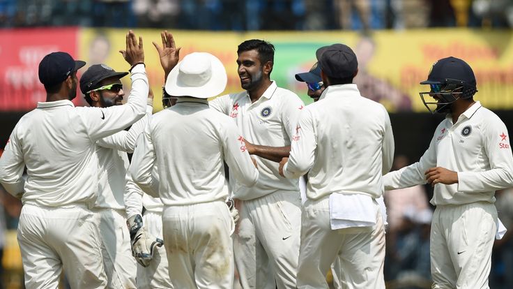
[[[254,103],[247,91],[243,91],[215,98],[210,101],[210,107],[231,117],[243,137],[252,144],[285,147],[291,144],[296,122],[305,105],[296,94],[277,87],[273,81]],[[259,156],[252,157],[257,160],[259,182],[249,188],[233,180],[230,175],[233,198],[251,200],[275,191],[299,192],[298,179],[280,176],[278,163]]]

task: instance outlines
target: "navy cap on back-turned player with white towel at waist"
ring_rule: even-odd
[[[358,59],[353,50],[344,44],[324,46],[316,51],[323,73],[329,77],[353,77],[358,71]]]

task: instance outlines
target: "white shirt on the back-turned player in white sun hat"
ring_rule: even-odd
[[[229,117],[205,99],[181,96],[176,105],[153,114],[132,156],[130,175],[164,205],[188,205],[227,198],[224,165],[245,186],[259,178],[250,155]],[[152,177],[157,163],[160,180]]]

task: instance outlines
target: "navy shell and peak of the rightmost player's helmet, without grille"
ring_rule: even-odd
[[[429,71],[427,80],[420,84],[445,84],[447,79],[459,80],[465,86],[476,87],[472,68],[465,61],[456,57],[447,57],[436,61]]]

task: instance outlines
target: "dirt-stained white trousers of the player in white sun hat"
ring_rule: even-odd
[[[169,277],[175,288],[233,288],[233,218],[224,201],[166,206]]]

